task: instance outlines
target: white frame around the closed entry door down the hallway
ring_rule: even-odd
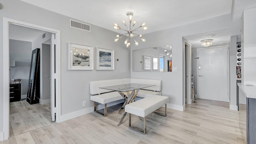
[[[226,60],[227,60],[227,101],[229,101],[229,46],[228,45],[223,45],[223,46],[213,46],[213,47],[209,47],[209,48],[222,48],[222,47],[226,47],[227,48],[227,56],[226,56]],[[209,49],[209,48],[197,48],[196,49],[196,57],[198,57],[198,50],[202,50],[202,49]],[[196,61],[196,92],[197,95],[199,96],[199,91],[198,91],[198,60]]]

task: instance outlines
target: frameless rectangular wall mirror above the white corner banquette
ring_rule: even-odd
[[[132,71],[171,72],[172,45],[133,50]]]

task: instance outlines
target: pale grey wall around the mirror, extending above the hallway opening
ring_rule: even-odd
[[[161,30],[145,34],[146,43],[140,42],[139,46],[132,43],[131,50],[150,48],[155,46],[172,45],[172,68],[177,67],[178,72],[131,72],[132,78],[152,78],[162,80],[162,95],[169,96],[169,108],[183,110],[184,100],[184,46],[182,36],[210,32],[230,28],[231,15],[194,22],[176,28]],[[131,57],[132,59],[132,57]]]

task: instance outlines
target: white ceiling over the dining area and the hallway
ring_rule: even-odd
[[[189,24],[216,16],[232,13],[232,24],[240,28],[240,18],[244,9],[256,6],[256,0],[21,0],[38,7],[116,31],[113,23],[122,26],[122,20],[128,22],[126,12],[133,12],[136,24],[146,22],[147,30],[141,34]],[[22,32],[21,32],[22,33]],[[28,31],[26,31],[28,34]],[[230,36],[236,33],[220,30],[184,36],[192,47],[202,47],[200,40],[209,34],[213,45],[228,44]],[[30,35],[30,34],[28,34]],[[24,33],[22,35],[24,37]],[[238,36],[239,41],[240,36]],[[27,40],[26,40],[27,41]]]

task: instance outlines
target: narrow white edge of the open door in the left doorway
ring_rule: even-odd
[[[55,121],[56,104],[56,69],[55,69],[55,34],[52,34],[51,38],[51,115],[52,121]]]

